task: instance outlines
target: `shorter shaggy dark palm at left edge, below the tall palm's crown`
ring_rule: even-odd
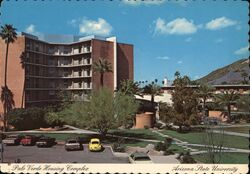
[[[4,108],[4,131],[7,127],[7,113],[15,106],[14,95],[7,86],[2,86],[1,102]]]

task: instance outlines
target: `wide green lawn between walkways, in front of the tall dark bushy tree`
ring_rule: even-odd
[[[192,143],[192,144],[204,144],[204,132],[189,132],[189,133],[178,133],[172,130],[163,130],[163,134],[177,138],[179,140]],[[217,138],[220,138],[220,134],[215,134]],[[248,149],[249,141],[246,137],[239,137],[233,135],[224,135],[224,146],[234,147],[240,149]]]

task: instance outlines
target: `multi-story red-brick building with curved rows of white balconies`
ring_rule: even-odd
[[[58,36],[57,36],[58,37]],[[48,37],[51,38],[51,37]],[[46,106],[58,102],[59,91],[70,91],[74,100],[84,100],[100,87],[100,74],[93,63],[107,59],[112,71],[104,74],[104,86],[116,90],[122,80],[133,80],[133,45],[117,43],[115,37],[59,36],[55,43],[22,33],[9,46],[7,85],[15,107]],[[58,39],[57,39],[58,40]],[[4,83],[6,44],[0,40],[0,85]],[[2,112],[2,105],[0,112]]]

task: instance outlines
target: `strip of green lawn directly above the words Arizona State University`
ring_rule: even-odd
[[[194,159],[201,163],[210,163],[208,154],[192,155]],[[218,155],[216,156],[218,158]],[[248,164],[247,153],[222,153],[219,164]]]

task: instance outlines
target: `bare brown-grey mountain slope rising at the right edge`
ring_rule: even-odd
[[[245,81],[244,81],[245,76]],[[208,75],[200,78],[197,82],[209,83],[212,85],[221,84],[250,84],[249,59],[240,59],[230,65],[219,68]]]

